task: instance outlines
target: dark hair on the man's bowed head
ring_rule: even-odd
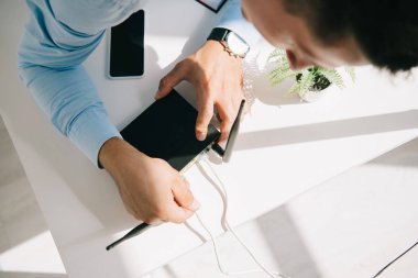
[[[284,0],[323,43],[353,35],[371,63],[392,73],[418,65],[416,0]]]

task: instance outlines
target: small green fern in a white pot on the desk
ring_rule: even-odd
[[[311,102],[318,99],[321,92],[331,85],[336,85],[340,89],[345,87],[342,75],[337,69],[312,66],[306,69],[292,70],[286,53],[282,48],[273,51],[268,60],[275,64],[268,76],[271,85],[277,86],[287,79],[293,79],[295,82],[289,88],[288,93],[297,93],[304,101]],[[351,80],[354,81],[354,69],[352,67],[344,69]]]

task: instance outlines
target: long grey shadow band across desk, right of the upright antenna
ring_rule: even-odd
[[[418,110],[243,133],[237,151],[418,129]]]

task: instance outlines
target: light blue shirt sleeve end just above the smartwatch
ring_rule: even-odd
[[[218,27],[229,29],[240,35],[252,46],[261,38],[261,34],[248,20],[244,19],[241,11],[241,0],[229,0],[224,12],[218,23]]]

